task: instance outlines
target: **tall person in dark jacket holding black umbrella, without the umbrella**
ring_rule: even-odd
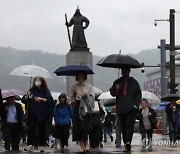
[[[135,114],[142,98],[139,83],[129,76],[130,72],[130,68],[123,67],[121,69],[122,77],[114,81],[110,88],[111,95],[116,96],[117,115],[120,119],[125,144],[124,151],[127,152],[131,151]]]

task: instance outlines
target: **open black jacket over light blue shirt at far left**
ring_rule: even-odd
[[[3,129],[5,129],[5,126],[7,123],[7,110],[5,109],[6,106],[8,106],[7,102],[1,104],[1,107],[2,107],[1,120],[2,120],[2,124],[3,124]],[[23,119],[24,112],[23,112],[21,104],[15,102],[15,106],[16,106],[16,114],[17,114],[17,121],[18,121],[18,125],[19,125],[19,131],[22,132],[23,131],[22,119]]]

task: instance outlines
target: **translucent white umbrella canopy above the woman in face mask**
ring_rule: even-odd
[[[53,78],[51,74],[42,67],[36,65],[22,65],[15,68],[10,75],[24,76],[24,77],[37,77],[41,76],[43,78]]]

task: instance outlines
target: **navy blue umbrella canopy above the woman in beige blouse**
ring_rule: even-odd
[[[76,76],[79,71],[85,72],[87,75],[94,72],[86,65],[68,65],[59,67],[54,73],[57,76]]]

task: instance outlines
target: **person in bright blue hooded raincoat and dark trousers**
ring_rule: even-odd
[[[54,109],[55,138],[59,140],[60,150],[63,152],[64,146],[68,147],[73,109],[67,103],[66,94],[59,95],[59,102]]]

